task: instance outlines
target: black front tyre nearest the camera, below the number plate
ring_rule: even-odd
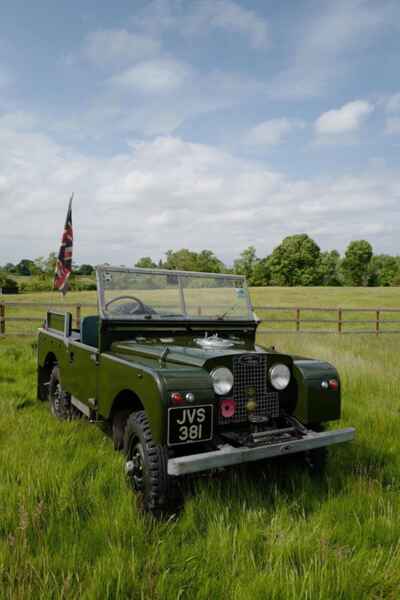
[[[153,442],[144,411],[132,413],[125,429],[125,455],[128,481],[139,494],[141,508],[160,518],[178,508],[176,482],[168,475],[165,446]]]

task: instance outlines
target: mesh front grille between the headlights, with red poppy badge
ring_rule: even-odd
[[[267,356],[243,354],[233,358],[233,399],[236,412],[233,417],[223,417],[218,411],[218,424],[243,423],[248,420],[246,404],[255,400],[253,414],[279,417],[278,392],[268,390]]]

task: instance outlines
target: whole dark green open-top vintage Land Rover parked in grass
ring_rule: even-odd
[[[38,397],[59,419],[109,425],[153,514],[174,509],[179,476],[293,453],[320,465],[354,438],[324,431],[340,418],[332,365],[256,344],[243,277],[101,266],[97,295],[79,329],[48,313]]]

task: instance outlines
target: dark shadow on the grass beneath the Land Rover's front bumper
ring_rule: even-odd
[[[351,493],[356,479],[381,482],[392,457],[356,444],[335,447],[326,468],[314,471],[303,454],[246,463],[181,481],[182,506],[191,498],[207,498],[212,510],[230,507],[232,514],[287,503],[302,515],[318,511],[328,498]],[[387,469],[387,471],[386,471]]]

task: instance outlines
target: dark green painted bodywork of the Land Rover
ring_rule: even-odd
[[[100,318],[99,348],[80,342],[80,332],[64,335],[64,321],[50,313],[49,323],[38,340],[38,396],[46,398],[46,382],[52,366],[60,369],[64,389],[83,402],[98,419],[110,419],[121,398],[132,408],[147,413],[155,442],[165,444],[166,416],[171,392],[193,392],[196,405],[216,404],[210,371],[232,368],[238,354],[266,353],[268,365],[286,364],[292,372],[289,387],[280,393],[285,410],[303,424],[319,424],[340,418],[340,385],[325,390],[321,382],[337,379],[336,369],[326,362],[292,357],[255,344],[256,321],[123,321]],[[228,349],[203,349],[196,338],[218,333],[235,336]],[[217,410],[214,411],[216,415]],[[189,444],[190,447],[190,444]]]

